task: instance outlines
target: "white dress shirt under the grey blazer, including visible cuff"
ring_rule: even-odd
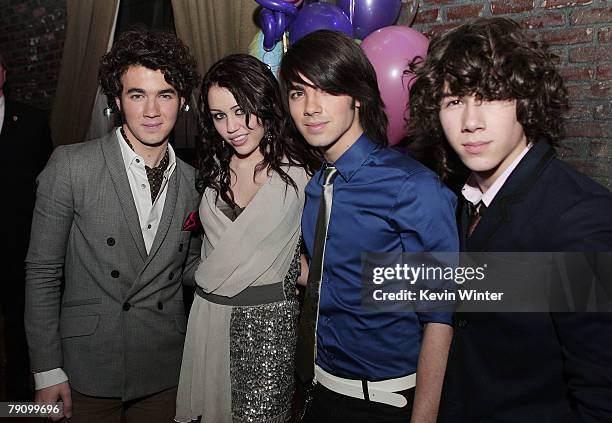
[[[164,210],[166,202],[166,193],[168,181],[174,168],[176,167],[176,155],[172,146],[168,144],[168,167],[164,172],[164,180],[162,182],[157,198],[151,203],[151,187],[147,178],[144,159],[136,154],[134,150],[123,139],[119,128],[116,129],[117,140],[121,147],[121,155],[125,164],[125,171],[130,182],[134,204],[138,212],[140,221],[140,230],[144,239],[147,253],[151,250],[159,221]],[[47,370],[45,372],[34,373],[34,386],[36,390],[48,388],[49,386],[57,385],[68,380],[68,375],[61,368]]]

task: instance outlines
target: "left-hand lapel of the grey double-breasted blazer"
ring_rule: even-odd
[[[130,181],[125,171],[125,163],[123,162],[121,147],[119,147],[119,140],[117,139],[115,131],[112,131],[107,139],[102,142],[102,152],[111,174],[113,184],[115,185],[115,191],[119,197],[119,203],[123,209],[128,228],[130,228],[132,238],[134,238],[140,257],[145,261],[147,259],[147,249],[144,244],[144,238],[142,237],[138,212],[134,204]]]

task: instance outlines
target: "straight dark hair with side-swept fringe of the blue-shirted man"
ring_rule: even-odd
[[[312,84],[307,84],[300,74]],[[314,85],[332,95],[348,95],[360,103],[359,121],[366,135],[380,145],[388,144],[388,121],[376,71],[347,35],[319,30],[299,39],[283,56],[279,79],[287,110],[287,93],[293,83]]]

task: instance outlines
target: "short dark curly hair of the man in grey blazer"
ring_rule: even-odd
[[[121,97],[121,78],[130,66],[161,70],[166,82],[187,101],[199,82],[189,48],[171,32],[136,29],[121,34],[100,60],[98,80],[109,100]],[[109,105],[117,109],[114,101]]]

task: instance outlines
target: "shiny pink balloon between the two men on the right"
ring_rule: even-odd
[[[397,144],[406,134],[409,119],[408,96],[414,78],[404,76],[408,63],[427,55],[429,40],[420,32],[405,26],[388,26],[372,32],[361,48],[376,70],[378,89],[385,102],[389,119],[389,144]]]

